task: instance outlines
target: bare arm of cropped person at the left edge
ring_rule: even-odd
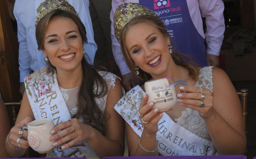
[[[0,122],[0,130],[1,130],[1,135],[0,135],[0,157],[5,157],[5,158],[10,158],[11,156],[8,154],[5,148],[5,139],[10,131],[10,122],[8,118],[8,113],[7,109],[5,107],[5,103],[3,99],[1,98],[0,94],[0,117],[1,117],[1,122]]]

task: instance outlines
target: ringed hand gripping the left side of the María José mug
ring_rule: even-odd
[[[139,108],[139,119],[144,126],[143,131],[148,134],[156,134],[158,131],[158,121],[162,118],[163,113],[158,114],[158,108],[151,110],[154,102],[148,102],[148,95],[144,95]]]

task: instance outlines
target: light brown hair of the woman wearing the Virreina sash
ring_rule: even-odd
[[[121,45],[121,50],[123,53],[123,57],[130,68],[130,70],[136,75],[136,70],[135,70],[135,65],[133,63],[132,58],[130,57],[129,51],[126,47],[125,44],[125,35],[129,29],[130,26],[133,26],[134,24],[137,23],[148,23],[151,26],[156,27],[163,35],[164,37],[169,37],[169,34],[167,32],[167,29],[164,26],[164,23],[162,20],[155,16],[155,15],[141,15],[138,17],[134,17],[132,20],[127,23],[123,29],[120,32],[120,45]],[[189,75],[194,79],[198,79],[198,69],[196,68],[195,63],[186,55],[184,54],[179,54],[177,52],[174,52],[171,54],[172,59],[176,65],[183,66],[189,71]],[[184,60],[186,62],[184,62]],[[143,81],[148,81],[151,78],[151,75],[148,74],[147,72],[144,72],[142,69],[139,69],[139,75],[137,75],[138,78],[140,78]]]

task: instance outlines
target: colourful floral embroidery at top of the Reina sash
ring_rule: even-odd
[[[35,96],[34,102],[38,102],[39,97],[52,93],[52,84],[55,84],[54,73],[55,71],[47,72],[46,67],[43,67],[25,78],[28,96]]]

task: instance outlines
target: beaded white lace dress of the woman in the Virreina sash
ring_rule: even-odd
[[[213,66],[208,66],[200,70],[195,87],[206,88],[210,90],[211,93],[213,92],[212,67]],[[182,115],[179,118],[174,119],[177,124],[180,124],[185,129],[203,139],[211,140],[204,119],[199,116],[198,111],[186,108],[186,110],[181,113]]]

